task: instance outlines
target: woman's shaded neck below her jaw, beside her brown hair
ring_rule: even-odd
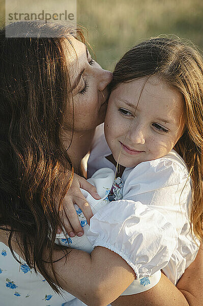
[[[75,173],[81,175],[81,160],[90,151],[95,129],[90,131],[74,131],[73,140],[68,155],[73,163]],[[68,148],[69,140],[64,141],[65,146]]]

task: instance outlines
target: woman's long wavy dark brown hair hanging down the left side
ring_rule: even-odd
[[[70,35],[82,42],[84,37],[80,30],[51,22],[7,27],[27,37],[7,38],[5,28],[0,30],[0,226],[7,228],[13,256],[12,239],[28,266],[38,268],[59,292],[52,256],[62,221],[54,204],[58,199],[62,205],[73,175],[62,141],[67,113],[73,126],[64,40],[72,48]],[[38,38],[29,38],[36,33]],[[46,269],[47,249],[56,285]]]

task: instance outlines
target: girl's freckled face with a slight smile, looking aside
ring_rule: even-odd
[[[105,137],[113,158],[124,167],[168,154],[184,125],[183,95],[157,77],[122,83],[110,94]]]

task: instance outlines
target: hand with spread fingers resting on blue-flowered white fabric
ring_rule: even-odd
[[[70,237],[74,237],[75,234],[77,236],[82,236],[84,234],[74,204],[77,204],[81,209],[89,225],[90,218],[93,216],[92,209],[81,193],[80,188],[88,191],[95,199],[100,199],[96,187],[87,182],[83,177],[74,173],[73,182],[65,196],[64,205],[61,210],[61,217],[65,225],[65,230]],[[61,232],[61,229],[58,228],[57,233],[60,234]]]

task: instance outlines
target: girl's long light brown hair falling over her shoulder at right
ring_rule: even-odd
[[[190,224],[203,241],[203,63],[191,42],[167,36],[151,38],[130,49],[117,63],[110,83],[113,90],[123,82],[157,75],[176,88],[185,100],[186,129],[175,145],[185,161],[193,184]]]

